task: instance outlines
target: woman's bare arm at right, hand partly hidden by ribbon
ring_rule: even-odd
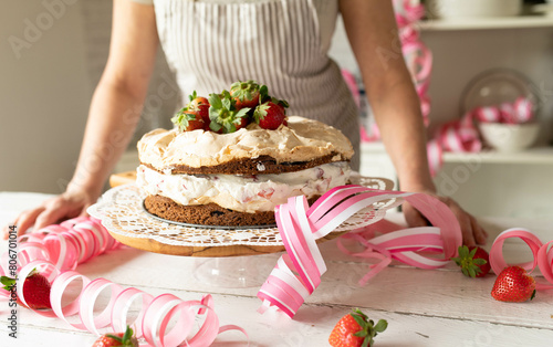
[[[341,0],[340,10],[401,190],[436,194],[418,95],[401,54],[392,1]],[[439,198],[457,215],[466,244],[486,242],[486,232],[472,215],[453,200]],[[405,215],[411,225],[426,222],[410,206]]]

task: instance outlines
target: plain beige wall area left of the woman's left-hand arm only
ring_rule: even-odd
[[[54,2],[0,2],[0,191],[60,192],[79,154],[91,95],[81,3]]]

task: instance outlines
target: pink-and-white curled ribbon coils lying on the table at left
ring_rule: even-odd
[[[145,340],[140,346],[209,346],[219,334],[227,330],[239,330],[248,336],[239,326],[219,325],[211,295],[205,295],[200,301],[182,301],[171,294],[154,297],[134,287],[124,288],[105,278],[90,280],[75,272],[77,264],[121,245],[96,219],[69,220],[22,235],[19,241],[18,276],[25,278],[36,269],[52,286],[52,309],[30,308],[39,315],[59,317],[76,329],[95,335],[101,335],[102,328],[124,332],[131,325],[135,336]],[[6,267],[0,267],[1,275],[14,271],[7,260],[7,254],[3,254],[2,265]],[[75,282],[81,283],[79,293],[74,291]],[[23,283],[17,282],[17,293],[27,305]],[[104,292],[109,293],[109,299],[98,313],[98,297]],[[0,298],[9,298],[10,294],[9,291],[0,290]],[[64,295],[76,295],[76,298],[64,305]],[[136,318],[128,322],[129,307],[135,302],[139,302],[142,307]],[[173,327],[167,332],[170,322]]]

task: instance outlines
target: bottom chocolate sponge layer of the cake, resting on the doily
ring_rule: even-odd
[[[310,199],[310,204],[317,198]],[[182,206],[161,196],[146,197],[144,207],[149,213],[159,218],[189,224],[230,227],[275,224],[273,211],[246,213],[221,208],[217,203]]]

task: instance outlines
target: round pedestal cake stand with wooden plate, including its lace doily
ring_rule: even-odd
[[[359,177],[358,183],[389,190],[392,181]],[[278,228],[213,229],[182,227],[152,218],[143,208],[146,198],[135,185],[117,186],[106,191],[87,212],[102,221],[109,234],[121,243],[155,253],[194,256],[195,278],[220,287],[261,285],[269,275],[259,269],[258,255],[285,250]],[[317,243],[335,239],[349,230],[363,228],[384,218],[393,201],[366,208]],[[271,267],[272,269],[272,267]]]

